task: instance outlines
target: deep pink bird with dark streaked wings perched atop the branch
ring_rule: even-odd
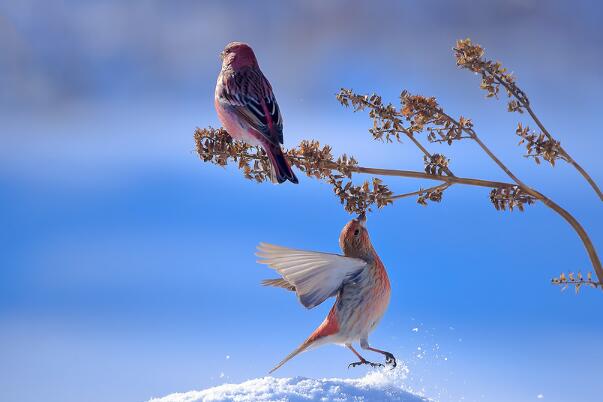
[[[234,139],[266,151],[273,182],[297,183],[280,146],[283,118],[253,50],[245,43],[231,42],[221,56],[214,104],[222,125]]]

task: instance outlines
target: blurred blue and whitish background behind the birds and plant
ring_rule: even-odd
[[[259,241],[338,251],[350,219],[328,185],[255,184],[203,164],[218,126],[219,52],[250,43],[285,119],[285,146],[331,144],[362,165],[421,170],[382,144],[340,87],[402,89],[473,118],[525,182],[570,210],[603,252],[603,209],[568,165],[522,158],[525,116],[455,66],[470,37],[503,61],[568,152],[603,183],[603,7],[594,1],[4,1],[0,3],[0,400],[142,401],[264,376],[322,321],[262,288]],[[531,124],[530,122],[530,125]],[[507,180],[472,143],[433,146],[459,176]],[[429,183],[389,178],[396,192]],[[603,295],[560,292],[589,271],[543,205],[497,212],[455,186],[370,214],[390,308],[371,336],[440,401],[599,401]],[[360,376],[349,351],[303,354],[282,376]]]

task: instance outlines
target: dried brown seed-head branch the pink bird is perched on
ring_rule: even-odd
[[[477,134],[473,132],[474,139],[477,139],[478,144],[484,149],[484,151],[490,155],[498,164],[502,164],[496,156],[486,147],[481,140],[477,137]],[[195,131],[195,142],[197,145],[197,152],[201,159],[206,162],[211,162],[220,166],[228,164],[228,160],[232,159],[238,162],[239,168],[245,173],[248,179],[255,179],[257,181],[265,181],[268,178],[268,159],[266,154],[259,148],[249,146],[239,141],[232,141],[228,133],[220,129],[197,129]],[[316,177],[318,179],[324,179],[334,186],[334,191],[342,199],[342,202],[346,197],[349,198],[362,198],[366,197],[368,201],[356,202],[353,205],[355,208],[367,208],[369,203],[377,203],[377,206],[381,207],[393,202],[394,200],[409,197],[411,195],[420,195],[428,192],[440,192],[445,190],[447,187],[453,184],[464,184],[469,186],[491,188],[496,191],[513,192],[516,191],[519,185],[525,192],[533,196],[534,198],[542,201],[547,207],[551,208],[559,215],[561,215],[572,228],[577,232],[578,236],[582,240],[584,247],[591,259],[592,265],[595,269],[595,273],[599,279],[599,283],[603,283],[603,269],[601,268],[601,262],[596,253],[596,250],[588,237],[584,228],[580,223],[565,209],[561,208],[555,202],[544,196],[543,194],[525,186],[519,179],[517,179],[517,185],[506,182],[482,180],[466,177],[448,176],[441,174],[429,174],[425,172],[410,171],[410,170],[399,170],[399,169],[381,169],[373,167],[359,166],[354,158],[347,157],[345,155],[339,157],[336,161],[330,153],[330,147],[325,146],[320,148],[318,142],[302,141],[298,148],[290,149],[286,152],[286,157],[289,161],[297,166],[300,170],[306,173],[310,177]],[[250,167],[253,165],[253,167]],[[503,169],[508,171],[508,169]],[[334,175],[332,172],[340,172],[340,175]],[[439,181],[441,184],[428,188],[426,190],[419,190],[413,193],[400,194],[395,196],[391,194],[386,187],[380,184],[380,181],[373,179],[373,191],[369,191],[368,183],[365,182],[363,186],[354,187],[351,186],[351,182],[342,185],[338,181],[339,177],[351,177],[352,173],[370,174],[376,176],[390,176],[390,177],[407,177],[414,179],[426,179]],[[515,177],[512,175],[510,177]],[[516,178],[516,177],[515,177]],[[437,200],[436,200],[437,201]],[[347,208],[346,208],[347,209]],[[521,208],[520,208],[521,209]]]

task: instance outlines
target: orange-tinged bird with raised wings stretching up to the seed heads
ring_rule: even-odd
[[[345,225],[339,236],[339,246],[343,255],[266,243],[258,246],[256,255],[262,258],[258,262],[267,264],[282,277],[265,280],[264,285],[294,291],[307,308],[337,296],[323,323],[270,373],[299,353],[328,343],[345,345],[354,352],[359,361],[348,367],[383,366],[362,357],[352,346],[354,342],[360,342],[362,349],[381,353],[386,364],[396,367],[394,355],[368,343],[369,333],[375,329],[389,304],[390,284],[385,267],[369,239],[364,214]]]

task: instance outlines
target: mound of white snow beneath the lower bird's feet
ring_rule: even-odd
[[[425,402],[402,385],[404,367],[374,370],[362,378],[264,377],[241,384],[224,384],[202,391],[190,391],[151,399],[149,402],[261,402],[261,401],[403,401]]]

